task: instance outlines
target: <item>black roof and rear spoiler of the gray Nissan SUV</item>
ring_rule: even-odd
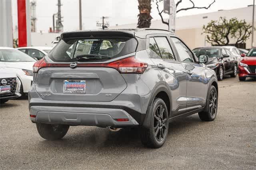
[[[80,38],[80,37],[104,37],[108,33],[108,36],[128,36],[139,38],[146,38],[149,34],[170,34],[175,35],[168,30],[152,29],[152,28],[137,28],[137,29],[105,29],[105,30],[81,30],[74,32],[64,32],[61,34],[61,38]]]

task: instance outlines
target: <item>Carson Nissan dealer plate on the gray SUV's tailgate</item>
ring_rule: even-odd
[[[63,93],[85,94],[85,80],[64,80]]]

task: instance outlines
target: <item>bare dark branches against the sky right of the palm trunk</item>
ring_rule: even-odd
[[[156,8],[157,8],[157,10],[158,10],[158,14],[159,14],[160,17],[161,17],[162,23],[169,26],[169,22],[164,21],[164,18],[163,18],[163,16],[162,16],[162,13],[163,13],[164,10],[162,10],[161,12],[160,12],[160,10],[159,10],[159,4],[158,4],[158,3],[159,3],[159,2],[162,2],[163,0],[155,0],[155,1],[156,1]],[[215,0],[213,0],[213,2],[212,2],[209,6],[198,7],[198,6],[195,6],[195,3],[194,3],[192,0],[189,0],[189,1],[192,3],[192,6],[191,6],[191,7],[178,9],[178,6],[179,6],[179,4],[180,4],[182,1],[183,1],[183,0],[179,0],[179,1],[176,3],[176,13],[178,13],[178,12],[180,12],[180,11],[191,10],[191,9],[209,9],[209,8],[212,6],[212,4],[214,4],[214,2],[215,2]]]

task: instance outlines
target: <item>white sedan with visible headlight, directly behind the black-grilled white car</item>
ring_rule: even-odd
[[[21,81],[20,94],[28,93],[33,82],[35,59],[10,47],[0,47],[0,67],[12,68]]]

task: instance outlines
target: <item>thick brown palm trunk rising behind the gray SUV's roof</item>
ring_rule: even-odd
[[[138,9],[140,14],[138,14],[138,28],[149,28],[151,25],[151,0],[138,0]]]

